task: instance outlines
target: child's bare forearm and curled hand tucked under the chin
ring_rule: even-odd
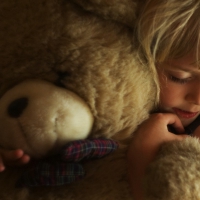
[[[167,125],[172,125],[177,132],[184,132],[179,118],[170,113],[151,115],[135,132],[128,151],[129,178],[135,200],[143,199],[142,179],[145,169],[154,159],[159,147],[164,142],[187,137],[170,133]]]

